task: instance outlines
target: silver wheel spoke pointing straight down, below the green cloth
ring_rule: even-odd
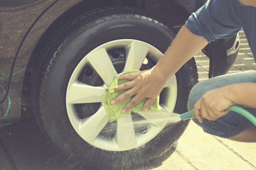
[[[120,148],[137,147],[137,140],[131,114],[117,120],[116,141]]]

